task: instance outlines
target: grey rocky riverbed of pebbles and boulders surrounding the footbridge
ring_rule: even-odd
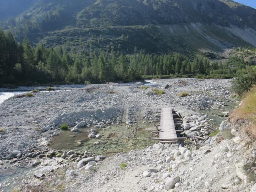
[[[104,133],[112,126],[124,126],[130,130],[126,142],[134,142],[136,130],[140,128],[136,124],[153,124],[155,114],[163,107],[172,107],[186,116],[186,122],[182,124],[185,135],[202,134],[205,138],[210,134],[205,129],[207,126],[214,127],[214,120],[210,116],[199,115],[199,110],[201,113],[202,110],[220,111],[218,115],[228,116],[231,80],[191,78],[155,82],[147,87],[142,87],[140,82],[114,87],[88,85],[69,88],[69,91],[38,92],[33,97],[12,97],[4,101],[0,104],[0,175],[10,168],[24,168],[22,174],[26,175],[25,180],[30,180],[28,183],[40,185],[41,182],[44,185],[47,181],[52,182],[53,191],[160,191],[173,188],[172,182],[179,190],[195,191],[192,190],[195,187],[202,191],[202,185],[192,185],[191,182],[196,180],[191,178],[187,185],[185,180],[192,177],[192,162],[198,164],[204,159],[203,151],[216,147],[217,152],[216,136],[210,137],[205,142],[206,146],[195,152],[190,146],[191,140],[181,146],[148,144],[152,146],[145,146],[142,150],[130,148],[134,150],[129,153],[120,151],[110,156],[102,156],[96,151],[97,146],[105,151],[104,145],[111,138]],[[155,94],[152,90],[156,88],[164,90],[165,94]],[[189,96],[178,96],[185,91]],[[63,134],[60,130],[63,123],[68,124],[70,130],[78,131],[76,134],[80,134],[79,129],[90,130],[89,137],[95,140],[91,143],[93,151],[83,151],[82,148],[68,151],[64,147],[53,149],[52,138]],[[68,132],[71,134],[70,130]],[[65,141],[62,142],[65,145]],[[83,144],[82,140],[76,142]],[[118,145],[118,141],[114,142]],[[183,147],[186,149],[183,150]],[[172,154],[176,154],[176,158]],[[186,167],[186,164],[190,164],[190,167]],[[31,168],[32,165],[34,168]],[[186,172],[180,172],[181,169]],[[200,171],[197,170],[198,176]],[[20,174],[5,178],[0,188],[15,187],[14,181],[20,182],[16,178],[20,178]],[[209,189],[213,182],[208,181]]]

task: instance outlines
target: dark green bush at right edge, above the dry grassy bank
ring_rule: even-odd
[[[239,96],[244,95],[256,84],[256,67],[248,67],[247,75],[233,80],[232,90]]]

